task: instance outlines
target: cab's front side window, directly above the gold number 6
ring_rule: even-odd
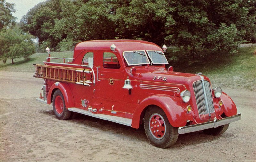
[[[108,69],[119,69],[120,63],[114,53],[103,53],[103,67]]]

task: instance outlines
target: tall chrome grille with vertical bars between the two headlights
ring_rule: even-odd
[[[200,120],[209,120],[214,118],[215,110],[209,81],[196,81],[193,84],[193,88]]]

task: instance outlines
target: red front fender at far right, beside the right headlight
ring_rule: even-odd
[[[226,116],[237,114],[237,108],[234,101],[226,93],[222,92],[220,99],[223,102],[222,108]]]

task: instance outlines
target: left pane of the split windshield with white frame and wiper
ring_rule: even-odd
[[[150,64],[144,50],[127,51],[123,53],[123,56],[128,65]]]

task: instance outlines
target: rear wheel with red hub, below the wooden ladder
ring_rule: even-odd
[[[53,94],[52,107],[58,119],[66,120],[70,118],[71,112],[66,108],[64,97],[59,89]]]

